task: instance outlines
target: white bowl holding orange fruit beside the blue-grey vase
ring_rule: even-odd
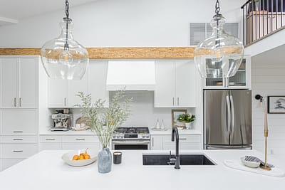
[[[84,153],[85,151],[86,149],[67,152],[66,154],[63,154],[61,159],[63,159],[66,164],[73,167],[83,167],[88,164],[92,164],[97,160],[98,151],[95,151],[94,149],[87,149],[87,152],[90,155],[90,159],[72,160],[74,155],[79,155],[80,153]]]

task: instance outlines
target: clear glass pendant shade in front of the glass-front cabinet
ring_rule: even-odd
[[[244,45],[238,38],[224,32],[225,19],[216,14],[212,35],[195,48],[195,65],[202,78],[229,78],[237,73],[244,57]]]

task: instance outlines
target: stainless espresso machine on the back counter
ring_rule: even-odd
[[[66,113],[61,110],[56,110],[56,113],[51,115],[53,119],[53,127],[51,131],[68,131],[71,130],[73,124],[73,114]]]

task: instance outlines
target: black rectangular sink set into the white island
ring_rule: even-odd
[[[174,155],[172,155],[174,157]],[[174,165],[169,164],[169,154],[142,154],[143,165]],[[204,154],[180,154],[180,165],[216,165]]]

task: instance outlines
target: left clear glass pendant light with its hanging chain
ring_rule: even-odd
[[[88,51],[73,38],[73,23],[69,18],[66,0],[66,17],[60,23],[61,35],[46,42],[41,48],[41,60],[50,78],[80,80],[89,63]]]

